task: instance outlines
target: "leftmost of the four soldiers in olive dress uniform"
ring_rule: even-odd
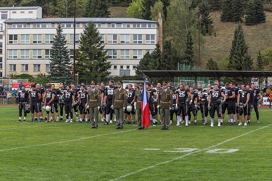
[[[91,115],[91,129],[98,128],[98,110],[101,107],[101,92],[96,89],[96,82],[91,81],[91,89],[88,90],[88,106]]]

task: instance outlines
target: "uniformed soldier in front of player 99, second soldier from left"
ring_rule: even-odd
[[[127,107],[128,94],[122,88],[122,81],[117,81],[117,89],[113,90],[112,109],[114,109],[116,117],[116,129],[123,129],[124,111]]]

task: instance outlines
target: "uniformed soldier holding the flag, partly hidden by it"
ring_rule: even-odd
[[[134,101],[136,103],[136,110],[137,110],[137,116],[138,116],[138,129],[144,129],[144,126],[142,125],[142,107],[141,107],[141,100],[142,100],[142,94],[144,90],[144,83],[139,82],[139,90],[135,91]]]

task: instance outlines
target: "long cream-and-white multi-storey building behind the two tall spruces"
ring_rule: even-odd
[[[63,28],[70,58],[73,59],[73,18],[8,19],[4,26],[5,71],[37,75],[50,71],[50,49],[58,24]],[[110,76],[135,75],[136,65],[146,52],[152,52],[158,42],[158,22],[135,18],[76,18],[76,49],[80,33],[88,22],[95,23],[101,42],[108,50]],[[71,61],[72,63],[72,61]],[[4,70],[4,69],[3,69]]]

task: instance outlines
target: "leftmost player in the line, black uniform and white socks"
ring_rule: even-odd
[[[25,86],[22,86],[22,90],[18,91],[19,98],[18,98],[18,106],[19,106],[19,119],[17,122],[22,120],[22,110],[24,110],[24,120],[26,120],[27,113],[25,112],[25,108],[28,107],[28,91],[25,90]]]

